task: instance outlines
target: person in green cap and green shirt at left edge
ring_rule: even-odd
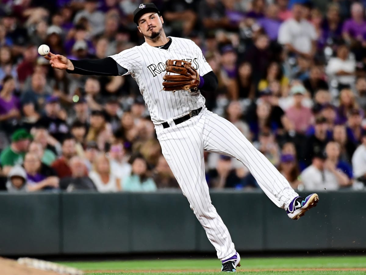
[[[13,166],[23,164],[31,138],[32,136],[25,129],[18,129],[11,135],[11,144],[0,154],[4,175],[8,175]]]

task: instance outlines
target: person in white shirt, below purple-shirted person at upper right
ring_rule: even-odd
[[[330,58],[326,67],[329,77],[335,79],[338,87],[352,87],[355,84],[356,62],[349,56],[347,45],[339,45],[337,57]]]

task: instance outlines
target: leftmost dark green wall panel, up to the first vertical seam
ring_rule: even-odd
[[[59,253],[59,212],[59,194],[0,193],[0,253]]]

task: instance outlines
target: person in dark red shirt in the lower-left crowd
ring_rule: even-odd
[[[70,168],[70,159],[76,154],[75,139],[66,137],[62,142],[62,155],[52,163],[52,168],[56,170],[60,179],[70,177],[72,175]]]

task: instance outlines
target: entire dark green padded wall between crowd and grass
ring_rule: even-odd
[[[212,191],[239,251],[366,249],[364,191],[319,193],[290,220],[262,192]],[[0,255],[214,252],[180,192],[0,193]]]

